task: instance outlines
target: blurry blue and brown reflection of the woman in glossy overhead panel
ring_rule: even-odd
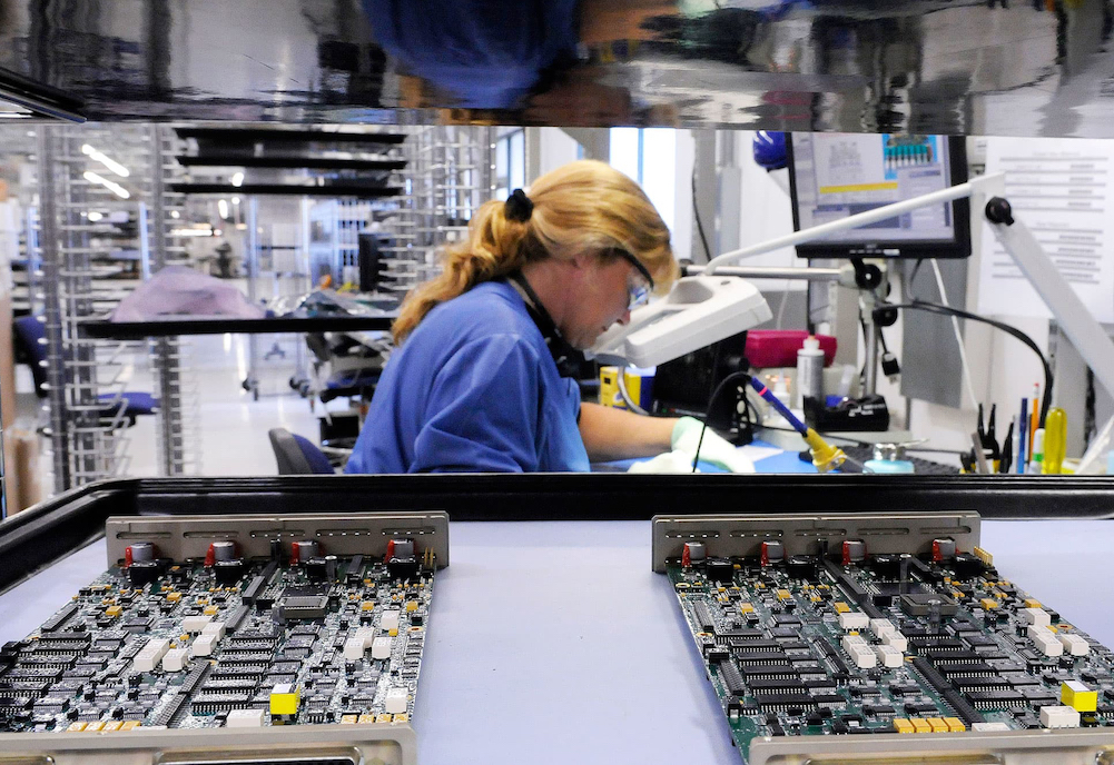
[[[579,66],[582,55],[653,37],[642,20],[676,13],[676,0],[362,2],[379,45],[408,73],[455,96],[456,106],[525,107],[539,119],[556,110],[629,115],[626,89],[599,84],[595,68]]]

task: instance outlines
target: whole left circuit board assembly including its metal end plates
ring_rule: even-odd
[[[413,765],[448,527],[108,519],[108,570],[0,648],[0,764]]]

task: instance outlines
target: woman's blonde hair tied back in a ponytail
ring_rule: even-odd
[[[622,248],[646,266],[658,293],[676,279],[668,228],[638,185],[609,165],[584,159],[559,167],[534,182],[529,198],[534,209],[525,222],[508,218],[502,202],[480,206],[468,239],[443,249],[441,274],[407,295],[391,326],[395,344],[440,303],[529,261]]]

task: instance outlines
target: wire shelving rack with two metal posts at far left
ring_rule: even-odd
[[[135,213],[140,268],[144,277],[179,263],[184,248],[170,236],[178,199],[166,192],[173,156],[162,128],[131,125],[42,126],[38,128],[38,231],[28,236],[28,261],[41,259],[41,276],[32,284],[32,305],[39,294],[47,336],[50,399],[51,464],[56,491],[123,474],[129,460],[124,395],[133,353],[150,353],[158,399],[156,425],[158,468],[180,475],[190,463],[185,416],[196,409],[196,396],[182,376],[183,347],[177,339],[128,343],[89,337],[84,326],[98,322],[134,285],[96,278],[96,256],[109,249],[97,243],[106,226],[90,222],[87,212],[125,209]],[[118,198],[82,175],[88,158],[81,146],[110,147],[126,157],[137,192]],[[33,220],[29,216],[29,222]],[[31,245],[39,245],[39,258]],[[108,253],[109,257],[111,253]]]

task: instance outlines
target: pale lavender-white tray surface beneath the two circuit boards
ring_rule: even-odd
[[[453,523],[413,719],[421,765],[725,763],[727,725],[649,522]],[[999,572],[1114,645],[1105,521],[984,521]],[[0,596],[18,639],[106,567],[104,542]]]

